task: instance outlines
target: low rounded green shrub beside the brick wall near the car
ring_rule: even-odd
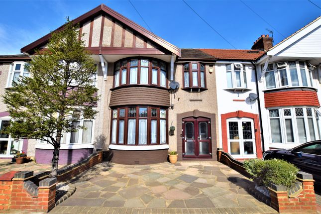
[[[291,163],[280,159],[246,160],[244,167],[258,185],[269,184],[291,187],[297,178],[299,169]]]

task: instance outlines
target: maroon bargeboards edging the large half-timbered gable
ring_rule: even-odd
[[[113,9],[107,7],[105,4],[101,4],[97,6],[96,8],[86,12],[85,14],[79,16],[78,18],[75,18],[72,20],[74,24],[77,24],[79,22],[84,22],[85,20],[90,19],[91,17],[94,17],[96,15],[107,13],[112,18],[118,20],[119,22],[122,22],[123,24],[127,25],[129,28],[132,28],[134,31],[139,32],[143,36],[147,37],[148,39],[152,40],[156,44],[162,46],[166,50],[176,54],[177,56],[181,56],[181,49],[176,47],[175,45],[167,42],[166,40],[156,36],[154,33],[150,32],[149,30],[145,29],[144,27],[136,24],[132,20],[126,18],[125,16],[121,15],[120,13],[114,11]],[[52,32],[59,32],[63,30],[65,24],[61,25],[57,29],[55,29]],[[41,37],[40,39],[26,45],[25,47],[21,48],[22,53],[29,53],[33,52],[34,49],[39,48],[43,45],[45,45],[48,42],[48,39],[51,37],[51,33],[48,33],[47,35]]]

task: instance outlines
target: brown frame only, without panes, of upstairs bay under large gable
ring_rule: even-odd
[[[137,66],[130,66],[130,60],[134,60],[137,59],[138,63]],[[148,66],[141,66],[141,60],[147,59],[148,60]],[[123,61],[127,61],[127,63],[125,64],[125,66],[122,66],[122,62]],[[153,66],[153,61],[157,61],[158,63],[158,67],[157,66]],[[119,70],[116,69],[117,64],[119,63]],[[163,70],[166,72],[166,86],[161,86],[161,63],[165,63],[165,68],[166,70]],[[137,82],[136,84],[129,84],[130,81],[130,68],[135,68],[137,67]],[[141,67],[148,67],[148,81],[147,84],[140,84],[140,68]],[[122,79],[122,70],[126,69],[126,83],[125,84],[121,84],[121,79]],[[157,69],[157,84],[152,84],[152,71],[153,69]],[[119,71],[119,84],[118,86],[115,86],[115,74],[116,71]],[[164,62],[162,60],[159,59],[155,59],[155,58],[151,58],[151,57],[128,57],[128,58],[123,58],[120,59],[118,61],[116,61],[114,63],[114,71],[113,71],[113,81],[112,81],[112,88],[119,88],[119,87],[123,87],[123,86],[155,86],[155,87],[160,87],[160,88],[168,88],[168,75],[169,75],[169,65],[167,62]]]

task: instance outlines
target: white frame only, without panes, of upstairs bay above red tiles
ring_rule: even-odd
[[[289,62],[295,62],[296,63],[299,86],[292,86]],[[307,77],[308,86],[303,86],[299,62],[304,62],[304,64],[305,64],[305,74],[306,74],[306,77]],[[279,63],[285,63],[285,64],[278,66]],[[273,69],[274,69],[273,72],[274,72],[274,79],[275,79],[275,88],[269,88],[268,89],[266,87],[266,79],[265,79],[265,76],[264,76],[264,83],[265,83],[264,84],[264,88],[266,90],[278,89],[278,88],[290,88],[290,87],[312,87],[312,88],[316,87],[316,84],[314,83],[315,81],[313,79],[313,77],[314,77],[313,71],[308,69],[306,61],[303,61],[303,60],[289,60],[289,61],[274,62],[272,64],[273,64]],[[282,70],[284,68],[286,69],[287,81],[288,81],[288,85],[286,85],[286,86],[282,86],[281,85],[281,77],[280,77],[280,72],[279,72],[280,70]],[[272,72],[272,71],[269,71],[269,72]],[[311,75],[312,75],[312,82],[310,81],[310,72],[311,72]]]

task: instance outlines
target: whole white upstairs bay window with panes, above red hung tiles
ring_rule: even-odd
[[[304,61],[271,63],[265,72],[266,89],[283,87],[314,87],[313,72]]]

